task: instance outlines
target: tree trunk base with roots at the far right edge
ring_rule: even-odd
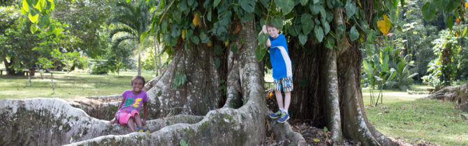
[[[462,86],[448,86],[427,96],[428,99],[442,99],[455,102],[457,108],[468,111],[468,83]]]

